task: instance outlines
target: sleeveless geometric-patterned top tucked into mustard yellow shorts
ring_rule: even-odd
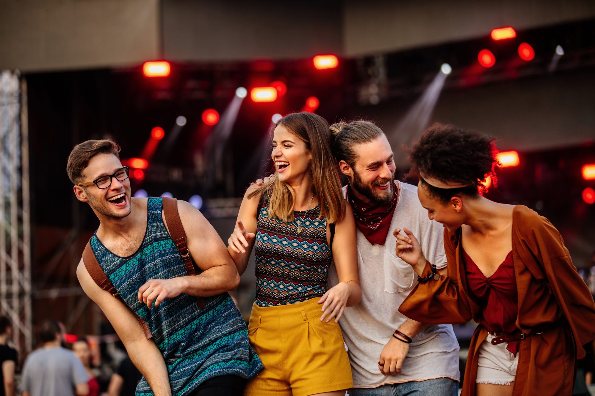
[[[256,304],[269,307],[322,297],[333,255],[320,205],[294,210],[288,223],[268,216],[269,200],[259,204],[256,218]]]

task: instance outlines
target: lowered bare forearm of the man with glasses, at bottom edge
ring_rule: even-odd
[[[125,346],[130,360],[145,377],[155,396],[171,396],[167,366],[155,342],[141,340],[129,342]]]

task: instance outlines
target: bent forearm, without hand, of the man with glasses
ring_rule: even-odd
[[[214,266],[199,275],[182,276],[183,292],[190,296],[209,297],[236,290],[240,275],[234,265]]]

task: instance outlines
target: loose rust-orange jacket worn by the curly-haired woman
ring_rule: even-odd
[[[479,322],[481,308],[468,297],[460,235],[460,228],[444,230],[447,275],[417,284],[399,312],[423,323]],[[517,205],[512,212],[512,258],[518,290],[516,327],[530,333],[534,326],[558,323],[520,342],[513,394],[570,396],[576,361],[585,356],[583,345],[595,338],[593,297],[572,265],[558,230],[527,206]],[[426,263],[422,277],[430,272]],[[462,396],[475,395],[477,351],[486,336],[483,326],[475,329]]]

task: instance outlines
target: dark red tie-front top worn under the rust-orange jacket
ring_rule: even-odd
[[[515,324],[518,316],[518,297],[512,251],[489,277],[481,272],[466,252],[463,256],[469,297],[483,309],[480,324],[491,332],[513,333],[518,330]],[[516,356],[519,341],[508,342],[506,349]]]

